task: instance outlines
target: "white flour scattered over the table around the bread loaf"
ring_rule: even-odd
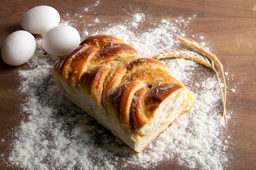
[[[99,1],[95,6],[98,4]],[[142,55],[152,57],[159,51],[178,47],[176,37],[189,32],[192,18],[164,18],[146,30],[139,30],[133,28],[146,22],[145,14],[135,13],[130,19],[108,27],[93,31],[85,27],[81,35],[114,35]],[[143,152],[136,153],[61,95],[52,78],[57,57],[45,54],[40,41],[37,40],[36,53],[29,61],[31,69],[19,71],[19,91],[27,95],[22,105],[27,119],[16,130],[17,140],[8,160],[13,166],[27,170],[115,170],[154,168],[164,161],[176,161],[190,169],[225,169],[229,137],[220,124],[220,91],[214,74],[195,73],[201,65],[184,59],[162,61],[195,93],[196,100],[189,113],[177,119]]]

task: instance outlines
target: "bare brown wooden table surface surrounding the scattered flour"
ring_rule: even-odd
[[[63,18],[66,12],[80,13],[86,6],[96,4],[97,0],[1,0],[0,2],[0,46],[13,31],[22,29],[22,14],[38,5],[54,7]],[[236,110],[231,115],[227,129],[234,134],[229,147],[233,159],[229,160],[228,170],[256,170],[256,5],[255,0],[99,0],[97,10],[81,12],[80,20],[92,20],[95,16],[121,20],[126,11],[140,9],[152,14],[152,20],[159,17],[188,18],[196,14],[189,26],[191,35],[204,35],[224,68],[237,82],[239,94],[228,95],[227,100]],[[74,16],[74,15],[73,15]],[[79,18],[76,18],[77,22]],[[102,23],[104,24],[104,23]],[[82,28],[78,28],[82,29]],[[2,160],[11,152],[16,126],[24,117],[19,114],[23,102],[22,95],[16,92],[20,82],[18,69],[27,65],[8,66],[0,59],[0,169],[10,170]],[[231,107],[231,106],[229,106]],[[166,167],[178,167],[170,162]],[[169,169],[169,168],[168,168]],[[185,168],[184,168],[185,169]]]

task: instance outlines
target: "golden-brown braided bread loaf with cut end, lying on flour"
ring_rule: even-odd
[[[137,152],[190,110],[195,99],[166,65],[103,34],[60,57],[54,80],[68,99]]]

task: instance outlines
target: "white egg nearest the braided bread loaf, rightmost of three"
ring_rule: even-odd
[[[50,29],[42,38],[43,49],[51,55],[64,55],[79,46],[79,32],[68,25],[60,25]]]

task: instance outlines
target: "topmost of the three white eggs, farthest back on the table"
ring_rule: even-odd
[[[60,14],[53,7],[41,5],[29,9],[21,18],[22,28],[32,34],[44,34],[60,22]]]

